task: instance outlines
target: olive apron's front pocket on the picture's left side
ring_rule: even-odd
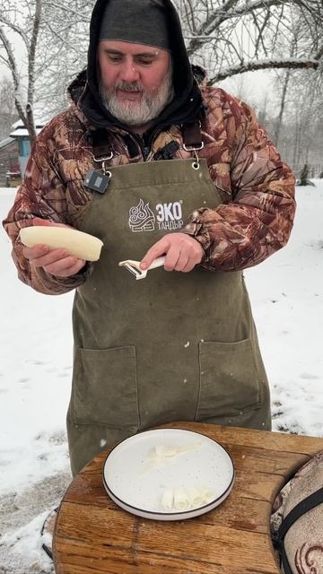
[[[76,424],[139,427],[135,346],[77,349],[70,414]]]

